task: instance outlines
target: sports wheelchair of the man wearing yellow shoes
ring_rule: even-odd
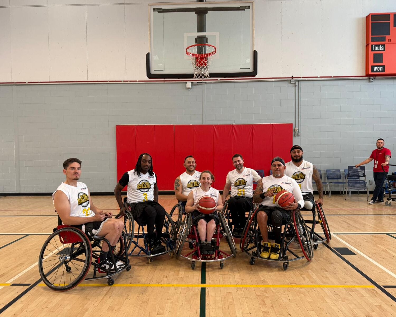
[[[245,252],[250,258],[250,265],[255,264],[255,260],[265,260],[272,262],[283,262],[284,271],[289,267],[289,262],[301,260],[306,258],[309,262],[313,254],[313,247],[310,239],[310,234],[308,231],[308,227],[305,224],[303,217],[299,210],[292,210],[290,220],[287,222],[286,220],[282,220],[282,226],[284,226],[282,233],[282,241],[280,243],[281,249],[278,260],[272,260],[270,258],[261,258],[261,241],[263,240],[261,237],[259,225],[257,222],[257,212],[259,208],[253,210],[249,214],[249,220],[246,223],[244,232],[242,234],[241,239],[241,249],[242,252]],[[270,240],[274,240],[274,233],[272,232],[272,225],[268,224],[268,238]],[[303,255],[299,256],[291,245],[292,242],[298,243],[301,248]],[[294,258],[289,259],[289,256],[286,254],[289,252]]]

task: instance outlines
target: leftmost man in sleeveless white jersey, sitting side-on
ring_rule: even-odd
[[[102,211],[94,206],[86,184],[79,182],[81,176],[81,161],[78,158],[69,158],[63,162],[63,174],[66,181],[61,183],[52,194],[53,205],[64,225],[72,225],[82,230],[88,237],[91,235],[105,237],[114,251],[115,245],[124,229],[124,220],[111,218],[112,212]],[[114,271],[107,243],[103,243],[97,263]],[[124,265],[117,261],[118,267]],[[100,273],[105,271],[98,269]]]

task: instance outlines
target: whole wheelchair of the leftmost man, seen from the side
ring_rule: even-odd
[[[38,259],[38,269],[43,282],[52,290],[70,290],[80,284],[84,279],[93,281],[97,279],[107,279],[108,285],[114,284],[114,275],[131,269],[128,260],[128,252],[125,252],[126,237],[121,233],[121,237],[116,244],[114,253],[110,251],[114,270],[109,271],[97,262],[102,249],[102,244],[107,243],[111,250],[110,243],[104,237],[88,237],[83,231],[70,225],[62,225],[58,216],[58,226],[53,229],[53,233],[48,237],[41,248]],[[119,268],[116,262],[121,261],[124,267]],[[93,277],[85,278],[89,268],[93,265]],[[105,271],[104,275],[98,269]],[[99,276],[97,276],[99,273]]]

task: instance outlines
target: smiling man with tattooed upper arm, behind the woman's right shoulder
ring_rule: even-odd
[[[197,164],[192,155],[188,155],[188,157],[184,159],[183,166],[186,168],[186,171],[175,180],[175,196],[176,199],[183,204],[183,207],[185,207],[187,196],[190,191],[200,185],[199,178],[201,172],[196,170]]]

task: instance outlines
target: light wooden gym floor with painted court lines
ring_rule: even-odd
[[[117,213],[112,196],[93,196]],[[164,255],[131,271],[67,292],[45,286],[38,255],[57,225],[51,197],[0,199],[0,313],[5,316],[396,316],[396,202],[368,205],[364,195],[325,197],[333,239],[311,262],[282,264],[241,253],[201,265]],[[174,196],[160,196],[170,211]],[[319,228],[318,228],[319,229]],[[226,244],[225,241],[223,245]],[[187,244],[186,244],[187,246]],[[188,246],[187,246],[188,248]],[[345,255],[347,253],[353,253]],[[91,269],[92,271],[92,269]],[[91,273],[91,272],[90,272]]]

